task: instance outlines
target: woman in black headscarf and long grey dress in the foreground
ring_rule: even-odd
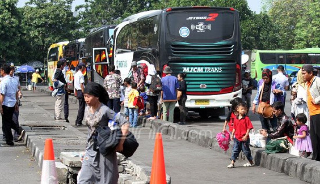
[[[107,107],[108,93],[98,83],[90,82],[86,85],[84,88],[84,101],[87,104],[84,111],[84,122],[89,128],[89,134],[78,184],[117,184],[119,174],[116,151],[123,150],[123,143],[128,134],[129,123],[122,114],[115,113]],[[117,123],[108,125],[110,119]],[[111,129],[121,127],[123,134],[123,139],[117,145],[116,150],[106,157],[102,156],[99,151],[93,150],[92,134],[100,126],[109,126]]]

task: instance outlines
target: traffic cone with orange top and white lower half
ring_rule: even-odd
[[[58,184],[52,139],[46,139],[44,144],[41,184]]]

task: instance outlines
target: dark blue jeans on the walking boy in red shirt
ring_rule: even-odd
[[[236,162],[236,158],[239,156],[240,151],[244,153],[244,155],[247,157],[247,159],[253,160],[251,156],[251,151],[249,148],[249,142],[250,140],[248,139],[247,141],[239,141],[237,140],[236,137],[233,138],[233,149],[232,149],[232,155],[230,160],[233,160]]]

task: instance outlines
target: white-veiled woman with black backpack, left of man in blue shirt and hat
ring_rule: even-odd
[[[146,86],[148,87],[147,90],[147,96],[148,96],[148,101],[150,104],[150,111],[151,111],[151,117],[148,119],[156,119],[157,117],[157,111],[158,111],[158,96],[161,93],[161,89],[153,89],[151,88],[151,84],[157,83],[156,81],[159,80],[161,84],[161,79],[159,75],[156,73],[156,68],[154,65],[149,65],[148,66],[148,75],[146,77]]]

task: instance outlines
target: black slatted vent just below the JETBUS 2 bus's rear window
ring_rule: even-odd
[[[234,44],[223,45],[170,45],[173,56],[230,56]]]

